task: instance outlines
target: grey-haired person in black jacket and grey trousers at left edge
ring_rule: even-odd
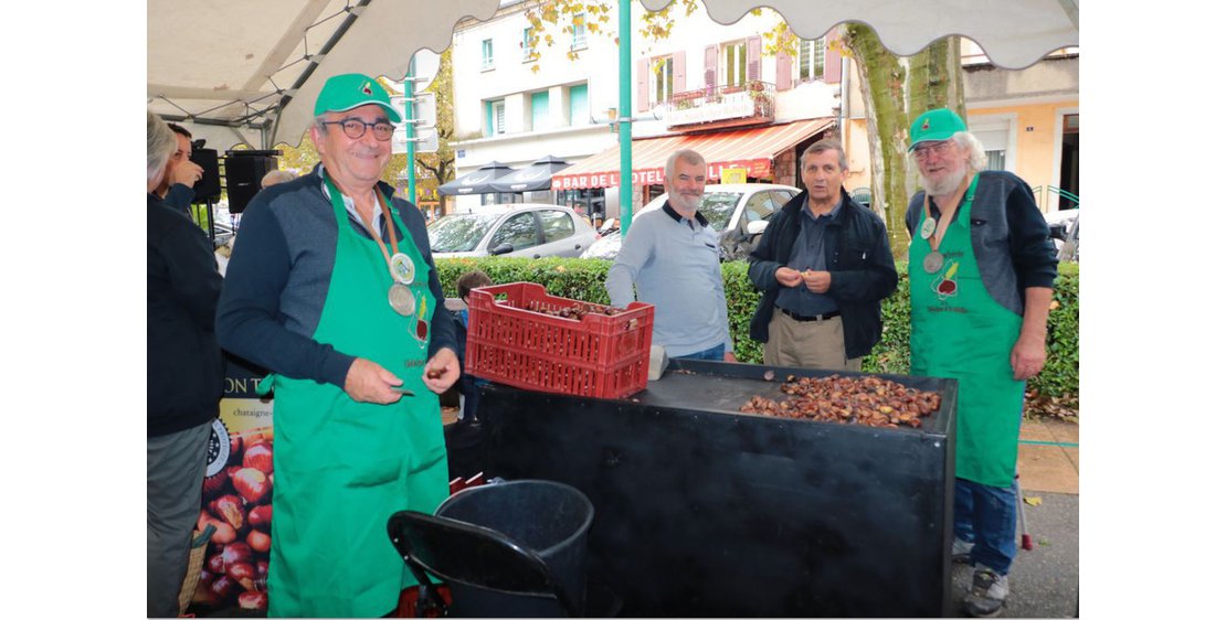
[[[175,137],[147,115],[148,223],[147,608],[150,618],[179,615],[191,528],[200,515],[210,426],[223,387],[213,315],[222,277],[205,232],[153,190],[166,174]]]

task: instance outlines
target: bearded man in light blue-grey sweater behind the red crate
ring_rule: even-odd
[[[635,290],[656,306],[651,341],[669,358],[736,361],[718,236],[698,212],[705,185],[702,156],[682,149],[668,158],[668,201],[634,218],[604,288],[618,308],[634,301]]]

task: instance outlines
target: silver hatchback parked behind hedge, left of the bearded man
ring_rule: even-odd
[[[450,213],[427,227],[435,259],[461,256],[569,256],[596,243],[596,230],[558,205],[515,203]]]

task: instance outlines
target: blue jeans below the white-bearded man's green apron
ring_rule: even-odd
[[[971,562],[1008,575],[1018,555],[1018,480],[1000,488],[958,478],[954,482],[954,535],[975,543]]]

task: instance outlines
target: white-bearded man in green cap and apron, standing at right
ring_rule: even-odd
[[[911,372],[958,380],[953,554],[975,564],[966,611],[994,616],[1018,551],[1018,433],[1047,355],[1056,249],[1030,185],[984,170],[953,110],[920,115],[910,152],[923,186],[906,214]]]

